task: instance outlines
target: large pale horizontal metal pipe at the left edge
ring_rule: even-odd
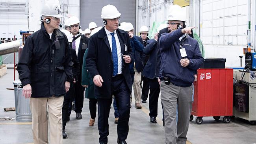
[[[21,44],[22,44],[21,39],[17,41],[11,41],[11,42],[0,44],[0,55],[6,55],[6,54],[18,52]]]

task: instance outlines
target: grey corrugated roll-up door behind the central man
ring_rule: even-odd
[[[88,28],[90,22],[95,22],[97,26],[102,24],[101,9],[102,7],[111,4],[117,7],[121,13],[121,22],[131,22],[136,24],[136,0],[80,0],[80,25],[82,30]]]

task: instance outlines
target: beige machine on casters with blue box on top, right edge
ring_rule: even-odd
[[[256,53],[245,54],[245,68],[234,70],[233,116],[256,122]]]

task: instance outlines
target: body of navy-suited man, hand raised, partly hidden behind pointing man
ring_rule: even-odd
[[[157,52],[158,33],[154,34],[154,39],[147,41],[147,46],[144,48],[144,53],[149,55],[142,75],[149,81],[149,116],[150,122],[156,123],[156,116],[158,115],[158,97],[160,93],[160,86],[156,76],[156,52]]]

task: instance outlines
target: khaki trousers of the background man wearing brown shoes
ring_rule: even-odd
[[[134,88],[134,100],[135,103],[141,103],[141,72],[137,72],[135,68],[134,72],[134,83],[132,84],[132,87]],[[130,100],[132,103],[132,94]]]

